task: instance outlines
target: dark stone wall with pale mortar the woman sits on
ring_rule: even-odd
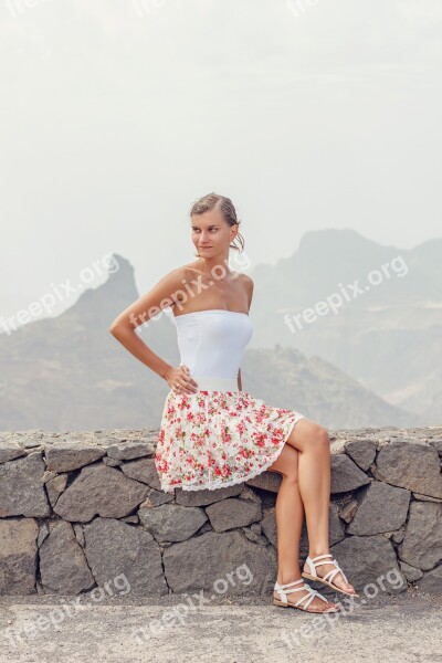
[[[157,430],[0,433],[0,593],[272,596],[281,475],[160,491]],[[442,590],[442,427],[329,431],[330,550],[357,590]],[[308,550],[305,525],[299,561]],[[232,582],[236,569],[252,581]],[[323,585],[313,583],[327,596]]]

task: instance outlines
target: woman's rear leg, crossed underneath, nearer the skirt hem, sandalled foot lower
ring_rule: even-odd
[[[272,472],[278,472],[283,477],[276,497],[276,579],[281,585],[302,579],[299,570],[299,538],[304,520],[304,506],[298,486],[298,452],[293,446],[285,444],[276,461],[269,469]],[[294,586],[294,588],[296,587],[302,587],[301,582]],[[273,596],[275,599],[281,599],[276,590],[273,592]],[[306,589],[293,591],[287,594],[287,600],[296,603],[304,596],[309,596]],[[306,603],[306,601],[303,603]],[[315,597],[308,606],[308,610],[322,611],[335,606],[336,603],[326,603]]]

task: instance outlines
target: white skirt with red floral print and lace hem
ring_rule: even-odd
[[[248,391],[170,390],[155,454],[161,490],[214,490],[256,476],[275,462],[299,419],[305,415]]]

